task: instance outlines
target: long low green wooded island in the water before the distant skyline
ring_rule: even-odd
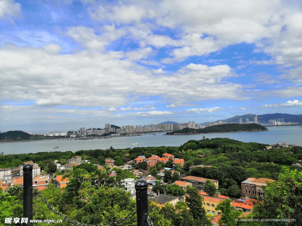
[[[181,134],[198,134],[198,133],[229,133],[229,132],[247,132],[247,131],[266,131],[266,127],[259,124],[222,124],[209,126],[203,129],[184,128],[182,130],[175,130],[166,135],[181,135]]]

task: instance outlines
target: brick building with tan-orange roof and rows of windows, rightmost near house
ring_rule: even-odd
[[[241,182],[242,196],[249,197],[250,199],[256,199],[257,197],[264,199],[265,198],[265,188],[266,182],[272,182],[275,180],[269,178],[254,178],[248,177],[245,181]]]

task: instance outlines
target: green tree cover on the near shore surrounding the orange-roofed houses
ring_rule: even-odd
[[[136,210],[136,202],[131,199],[130,193],[126,193],[121,180],[126,178],[136,179],[131,170],[119,168],[98,169],[93,164],[104,165],[105,159],[114,159],[115,165],[124,165],[137,156],[151,155],[162,156],[163,153],[175,155],[175,158],[184,159],[185,164],[175,165],[175,170],[181,174],[205,177],[219,181],[219,192],[233,198],[242,196],[241,182],[248,177],[265,177],[276,180],[268,184],[266,190],[269,192],[264,202],[258,202],[253,206],[253,212],[243,218],[249,219],[302,219],[302,167],[293,166],[302,160],[302,148],[295,146],[285,149],[267,149],[267,144],[244,143],[229,138],[213,138],[203,140],[189,140],[179,147],[135,147],[127,149],[106,150],[79,150],[77,152],[39,152],[18,155],[0,155],[0,168],[15,167],[25,161],[37,162],[44,173],[54,173],[56,176],[63,175],[69,182],[64,188],[49,184],[47,189],[41,190],[42,195],[59,212],[65,214],[73,221],[82,224],[104,225],[114,222],[117,219],[126,217]],[[285,152],[293,153],[287,154]],[[128,155],[129,154],[129,155]],[[72,156],[81,156],[82,159],[90,160],[90,164],[82,163],[75,166],[73,170],[56,171],[53,161],[58,160],[64,164]],[[200,157],[203,156],[203,157]],[[281,165],[282,164],[282,165]],[[210,165],[210,167],[194,167],[193,165]],[[284,166],[286,165],[286,166]],[[55,167],[53,167],[55,166]],[[146,162],[133,165],[133,168],[146,168]],[[155,167],[149,169],[150,175],[157,177],[159,170],[172,168],[172,160],[167,163],[158,162]],[[111,177],[112,171],[116,177]],[[166,174],[167,172],[167,174]],[[170,171],[169,171],[170,172]],[[161,194],[170,196],[183,196],[184,194],[194,197],[191,202],[178,202],[175,206],[166,204],[157,206],[149,202],[149,216],[154,226],[200,226],[210,225],[203,201],[195,188],[186,191],[173,184],[178,174],[168,174],[165,171],[163,181],[165,185],[153,186],[153,191],[159,190]],[[101,179],[100,179],[101,178]],[[12,188],[13,189],[13,188]],[[1,190],[1,188],[0,188]],[[23,208],[22,189],[14,196],[0,198],[0,215],[3,218],[21,218]],[[0,196],[3,194],[0,192]],[[34,193],[33,218],[34,219],[62,219],[53,211],[50,211],[43,200]],[[228,204],[230,206],[230,204]],[[187,209],[189,208],[189,209]],[[198,209],[198,211],[196,211]],[[230,211],[230,212],[228,212]],[[239,212],[232,209],[223,211],[222,215],[228,217],[229,222],[237,226],[288,226],[299,224],[288,224],[286,221],[270,222],[261,221],[251,223],[235,221]],[[225,220],[225,218],[223,218]],[[228,222],[224,221],[224,222]],[[276,224],[275,224],[276,223]],[[43,226],[43,223],[36,223],[35,226]],[[67,221],[60,223],[62,226],[69,226]],[[136,215],[124,221],[123,226],[136,224]]]

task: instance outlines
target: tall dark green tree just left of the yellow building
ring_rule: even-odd
[[[211,221],[207,218],[206,210],[204,209],[203,197],[198,194],[198,190],[194,187],[187,187],[186,190],[189,197],[185,199],[185,203],[189,207],[191,217],[198,225],[211,225]]]

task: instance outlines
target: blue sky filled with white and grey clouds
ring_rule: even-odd
[[[302,4],[0,0],[0,130],[302,113]]]

